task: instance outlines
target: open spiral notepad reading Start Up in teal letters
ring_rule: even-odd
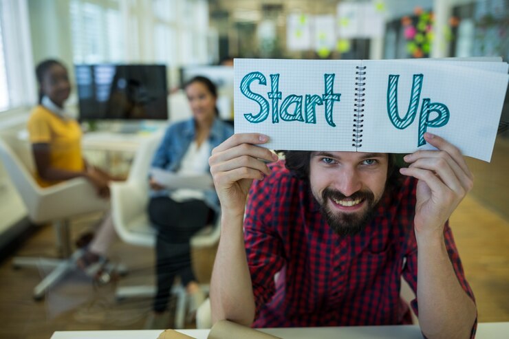
[[[429,131],[490,160],[508,84],[498,58],[235,59],[235,133],[270,149],[409,153]]]

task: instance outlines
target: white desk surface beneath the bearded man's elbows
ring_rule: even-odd
[[[206,339],[208,329],[179,329],[196,339]],[[367,327],[306,327],[261,329],[283,339],[422,339],[418,325],[367,326]],[[162,330],[131,331],[56,331],[51,339],[156,339]],[[484,322],[477,326],[477,339],[509,338],[509,322]]]

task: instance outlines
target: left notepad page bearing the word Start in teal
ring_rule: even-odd
[[[352,129],[354,113],[354,91],[358,61],[310,61],[279,59],[235,59],[235,133],[265,133],[270,149],[354,151]],[[252,72],[263,74],[266,85],[253,80],[249,90],[267,100],[269,115],[261,122],[252,123],[246,114],[257,116],[261,111],[256,100],[247,98],[241,91],[243,78]],[[340,94],[340,101],[334,102],[332,127],[325,118],[325,105],[316,105],[316,122],[285,121],[279,114],[279,122],[272,121],[271,74],[279,74],[279,113],[283,100],[290,95],[301,96],[301,112],[304,116],[305,96],[323,96],[325,91],[324,74],[335,74],[334,93]],[[258,100],[261,100],[258,98]],[[261,100],[263,101],[263,100]],[[288,107],[293,113],[295,104]]]

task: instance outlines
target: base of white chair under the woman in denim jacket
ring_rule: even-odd
[[[203,292],[208,293],[210,286],[200,284],[199,287]],[[116,290],[115,296],[117,300],[125,298],[153,298],[155,297],[156,288],[153,285],[140,285],[140,286],[126,286],[119,287]],[[177,305],[175,305],[175,322],[173,327],[175,329],[184,328],[184,319],[186,314],[187,292],[184,286],[174,285],[171,287],[171,294],[177,298]]]

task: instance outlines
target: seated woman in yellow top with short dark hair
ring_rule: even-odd
[[[109,197],[108,183],[114,178],[83,159],[80,125],[65,114],[64,102],[71,92],[67,69],[59,61],[46,60],[37,65],[36,77],[39,105],[28,120],[28,132],[37,182],[47,187],[63,180],[85,177],[101,198]],[[115,235],[108,213],[87,250],[78,259],[78,266],[89,274],[98,273],[106,261],[107,248]]]

